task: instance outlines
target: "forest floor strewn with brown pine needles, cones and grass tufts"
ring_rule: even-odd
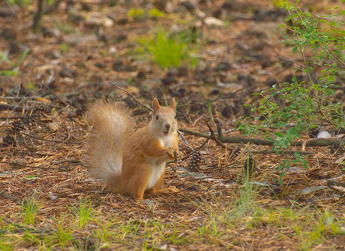
[[[93,180],[84,164],[82,115],[93,98],[125,102],[136,128],[151,116],[108,81],[149,106],[154,97],[161,104],[175,97],[184,155],[206,138],[183,129],[207,137],[207,123],[215,132],[221,124],[224,136],[243,137],[235,123],[254,121],[244,107],[253,93],[307,78],[292,75],[293,61],[303,60],[280,42],[277,26],[288,13],[275,7],[279,1],[56,0],[45,3],[38,33],[31,31],[37,2],[18,2],[0,1],[0,250],[345,246],[345,173],[337,162],[344,149],[305,147],[308,168],[290,167],[280,185],[277,167],[292,154],[211,139],[193,169],[190,158],[167,164],[165,186],[179,192],[146,195],[151,207]],[[313,15],[339,4],[301,2]],[[336,83],[332,101],[344,105],[344,76]],[[251,174],[248,159],[256,163]]]

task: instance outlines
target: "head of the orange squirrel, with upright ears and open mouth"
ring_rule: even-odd
[[[155,98],[152,107],[153,117],[151,124],[156,133],[167,136],[171,132],[175,132],[177,129],[175,98],[172,98],[170,105],[167,107],[160,106],[157,98]]]

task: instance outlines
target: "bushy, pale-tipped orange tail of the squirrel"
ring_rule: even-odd
[[[123,148],[135,125],[131,110],[119,102],[98,99],[89,106],[86,121],[93,127],[88,137],[89,171],[93,177],[121,191]]]

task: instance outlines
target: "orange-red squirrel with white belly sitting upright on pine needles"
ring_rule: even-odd
[[[92,126],[88,137],[87,163],[92,176],[112,189],[129,192],[139,202],[144,192],[178,192],[175,186],[162,189],[165,162],[180,160],[178,151],[176,102],[167,107],[152,102],[150,123],[133,132],[135,119],[131,110],[119,102],[99,99],[86,114]]]

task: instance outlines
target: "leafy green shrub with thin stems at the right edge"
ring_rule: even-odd
[[[345,1],[345,0],[342,0]],[[252,105],[246,105],[252,112],[259,114],[255,119],[262,119],[259,124],[248,122],[249,117],[240,118],[241,129],[244,135],[263,135],[267,140],[274,142],[273,151],[284,152],[291,144],[308,132],[321,124],[334,125],[336,128],[344,125],[342,117],[341,103],[330,103],[329,98],[335,93],[334,81],[339,71],[345,68],[344,42],[345,31],[344,21],[339,15],[345,15],[345,11],[337,12],[337,7],[326,8],[334,11],[333,15],[313,17],[310,12],[303,12],[298,6],[299,0],[295,4],[284,1],[283,8],[289,12],[286,21],[292,20],[293,25],[285,23],[280,25],[286,30],[290,30],[292,37],[284,36],[286,45],[293,45],[293,52],[299,52],[303,59],[303,65],[296,65],[296,71],[302,71],[307,75],[307,81],[298,82],[296,77],[292,78],[292,83],[284,83],[277,87],[264,90],[258,95],[259,99]],[[321,26],[325,23],[325,27]],[[305,50],[312,50],[312,61],[308,61]],[[331,64],[323,64],[322,59],[328,58],[333,61]],[[316,77],[315,66],[321,66],[321,77]],[[276,95],[283,104],[280,106],[276,102]],[[237,122],[240,123],[241,121]],[[276,132],[280,129],[280,132]],[[264,132],[263,132],[264,131]],[[275,139],[273,139],[275,137]],[[307,160],[295,153],[294,160],[284,160],[278,170],[288,168],[292,164],[308,167]],[[282,184],[282,171],[279,183]]]

